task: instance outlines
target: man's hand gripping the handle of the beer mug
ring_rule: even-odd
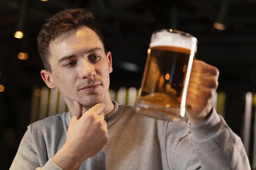
[[[218,87],[219,71],[201,60],[193,61],[186,96],[187,114],[191,125],[203,122],[212,109],[212,98]]]

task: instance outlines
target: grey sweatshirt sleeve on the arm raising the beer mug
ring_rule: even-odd
[[[204,122],[189,128],[191,138],[197,139],[193,148],[202,169],[250,169],[241,139],[215,109]]]

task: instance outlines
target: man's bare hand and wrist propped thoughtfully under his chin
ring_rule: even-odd
[[[74,100],[73,105],[66,142],[52,158],[62,169],[79,169],[84,160],[96,155],[109,140],[103,103],[94,105],[84,114],[79,102]]]

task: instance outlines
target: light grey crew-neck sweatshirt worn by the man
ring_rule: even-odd
[[[51,158],[66,140],[70,119],[63,113],[29,125],[10,169],[61,169]],[[109,142],[79,170],[250,169],[241,139],[214,109],[207,120],[191,126],[142,116],[134,107],[115,103],[105,120]]]

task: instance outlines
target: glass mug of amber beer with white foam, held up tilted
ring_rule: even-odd
[[[136,111],[157,119],[180,121],[186,112],[186,94],[197,39],[183,31],[154,31],[136,102]]]

